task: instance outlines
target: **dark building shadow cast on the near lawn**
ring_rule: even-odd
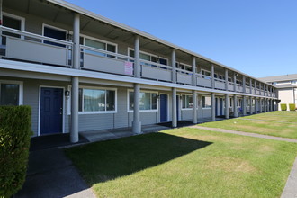
[[[165,133],[96,142],[65,150],[90,185],[130,175],[211,145]]]

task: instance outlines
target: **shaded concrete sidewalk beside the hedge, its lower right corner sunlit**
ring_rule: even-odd
[[[31,151],[23,189],[15,198],[86,197],[94,198],[92,190],[65,157],[63,150],[49,148]]]

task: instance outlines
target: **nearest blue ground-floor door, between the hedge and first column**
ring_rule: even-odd
[[[40,135],[62,133],[63,89],[42,87],[40,92]]]

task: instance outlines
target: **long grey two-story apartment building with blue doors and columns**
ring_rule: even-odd
[[[34,136],[275,110],[275,86],[62,0],[2,0],[1,105]]]

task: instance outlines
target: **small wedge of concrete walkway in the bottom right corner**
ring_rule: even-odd
[[[281,198],[295,198],[297,197],[297,157],[295,159],[293,168],[285,184],[284,191]]]

